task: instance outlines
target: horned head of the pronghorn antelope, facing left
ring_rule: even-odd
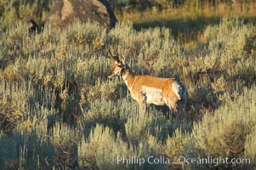
[[[113,56],[111,53],[111,50],[109,50],[110,55],[108,58],[112,59],[114,62],[114,67],[111,69],[111,71],[108,73],[108,77],[114,77],[114,76],[122,76],[122,71],[128,68],[128,65],[125,62],[125,58],[122,55],[122,59],[120,60],[118,56]]]

